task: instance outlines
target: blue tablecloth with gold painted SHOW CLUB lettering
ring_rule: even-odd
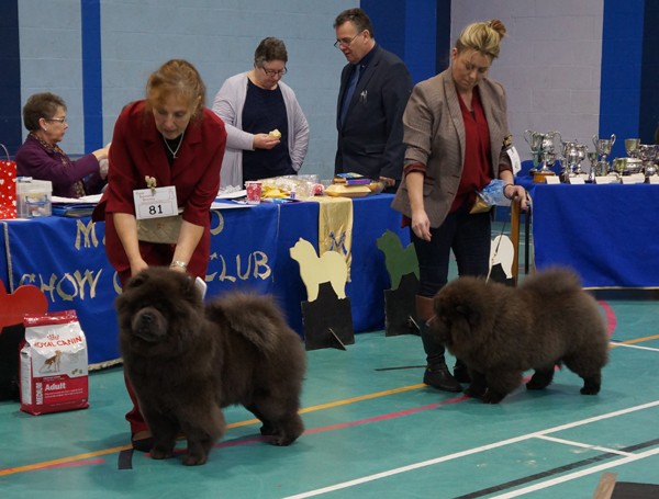
[[[384,327],[383,292],[390,287],[384,256],[376,247],[387,229],[410,243],[401,215],[391,209],[393,195],[353,200],[353,266],[346,294],[356,332]],[[230,290],[271,293],[291,328],[303,336],[301,302],[306,288],[289,250],[300,239],[317,251],[319,204],[260,204],[213,211],[208,296]],[[0,279],[8,293],[21,284],[38,286],[48,311],[75,309],[87,336],[89,362],[119,358],[113,300],[120,293],[103,246],[104,224],[90,217],[2,220],[4,258]]]

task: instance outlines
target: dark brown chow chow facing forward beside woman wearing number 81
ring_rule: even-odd
[[[165,268],[133,277],[115,300],[124,370],[154,438],[150,456],[204,464],[224,434],[222,408],[242,404],[273,445],[304,431],[305,353],[271,298],[228,293],[204,306],[193,280]]]

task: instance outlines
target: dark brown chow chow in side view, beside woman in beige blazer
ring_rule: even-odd
[[[469,397],[498,404],[535,374],[528,389],[543,389],[565,364],[595,395],[608,360],[608,330],[596,302],[569,270],[525,279],[520,287],[459,277],[435,296],[429,331],[469,368]]]

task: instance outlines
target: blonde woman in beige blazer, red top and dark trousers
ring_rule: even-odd
[[[526,207],[506,152],[505,91],[485,79],[504,34],[499,20],[467,26],[451,50],[451,66],[414,88],[403,116],[404,179],[392,207],[410,225],[418,257],[416,310],[427,356],[423,381],[446,392],[461,392],[469,374],[459,361],[455,377],[450,374],[444,347],[427,334],[425,322],[433,316],[433,296],[448,281],[451,249],[460,275],[488,274],[490,213],[469,213],[476,191],[502,179],[507,182],[504,195]]]

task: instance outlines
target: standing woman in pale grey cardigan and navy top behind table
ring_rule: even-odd
[[[295,93],[281,81],[288,54],[277,38],[261,41],[254,69],[228,78],[213,102],[226,126],[221,188],[283,174],[302,167],[309,124]]]

